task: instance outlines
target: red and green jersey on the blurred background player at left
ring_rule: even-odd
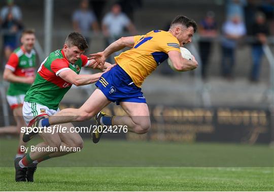
[[[12,70],[14,75],[28,77],[35,75],[36,54],[35,50],[27,53],[23,47],[18,47],[11,54],[5,68]],[[11,96],[26,94],[31,85],[26,83],[11,82],[7,94]]]

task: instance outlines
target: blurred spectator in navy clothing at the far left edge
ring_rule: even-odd
[[[3,20],[1,30],[3,30],[4,60],[7,61],[12,51],[18,46],[20,32],[23,29],[22,24],[15,20],[12,11],[8,13]]]

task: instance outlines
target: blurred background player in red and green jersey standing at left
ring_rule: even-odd
[[[20,135],[16,158],[24,156],[24,151],[21,151],[21,146],[25,146],[26,144],[22,141],[23,134],[20,134],[20,128],[21,126],[25,126],[22,115],[24,97],[35,79],[36,53],[35,50],[33,50],[33,45],[35,44],[34,31],[24,30],[21,43],[22,46],[15,49],[11,54],[3,75],[4,79],[10,82],[7,100],[13,110],[16,126],[0,127],[0,135]]]

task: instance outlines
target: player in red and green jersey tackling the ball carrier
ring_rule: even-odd
[[[59,111],[58,105],[64,94],[74,84],[87,85],[96,82],[103,73],[79,75],[82,67],[96,68],[91,65],[87,56],[83,55],[88,48],[85,38],[79,33],[71,33],[65,39],[61,50],[56,50],[42,62],[35,82],[26,93],[23,105],[23,117],[26,124],[39,118],[52,116]],[[101,67],[101,66],[100,66]],[[105,63],[102,71],[107,72],[113,66]],[[65,123],[62,127],[73,127],[72,123]],[[69,129],[69,128],[68,128]],[[83,147],[83,140],[78,133],[40,133],[44,142],[37,146],[41,148],[56,147],[57,151],[33,151],[33,156],[26,154],[23,158],[15,159],[16,181],[33,181],[33,173],[37,164],[57,156],[74,151],[60,151],[64,147]],[[33,157],[36,159],[32,161]],[[30,172],[32,174],[25,174]]]

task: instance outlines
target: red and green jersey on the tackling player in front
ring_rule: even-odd
[[[49,109],[57,110],[64,94],[71,88],[72,84],[66,82],[59,73],[65,70],[73,70],[79,74],[82,67],[89,65],[87,56],[81,55],[73,65],[64,56],[63,50],[56,50],[42,62],[35,82],[27,91],[25,101],[47,106]]]

